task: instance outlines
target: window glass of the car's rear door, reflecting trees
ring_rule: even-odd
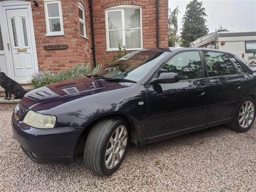
[[[203,51],[209,77],[234,74],[234,68],[223,53]]]

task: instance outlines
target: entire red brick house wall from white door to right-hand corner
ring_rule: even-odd
[[[37,0],[39,6],[32,4],[36,51],[39,70],[49,68],[57,72],[67,69],[75,63],[92,64],[92,44],[89,1],[80,0],[85,7],[86,36],[80,36],[77,0],[61,0],[64,36],[46,36],[44,4]],[[93,0],[94,38],[96,63],[104,64],[103,57],[114,60],[116,52],[106,52],[105,8],[117,5],[142,6],[143,48],[156,47],[156,0]],[[44,45],[68,44],[66,50],[44,50]],[[168,46],[168,0],[159,0],[159,46]]]

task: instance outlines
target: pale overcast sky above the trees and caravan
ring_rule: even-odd
[[[172,10],[179,6],[179,34],[186,5],[191,0],[169,0]],[[219,24],[231,31],[256,31],[256,0],[199,0],[206,9],[206,25],[209,32],[215,32]]]

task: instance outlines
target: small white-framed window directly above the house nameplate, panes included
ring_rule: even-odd
[[[46,36],[64,35],[61,1],[44,0]]]

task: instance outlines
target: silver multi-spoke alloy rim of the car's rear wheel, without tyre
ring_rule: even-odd
[[[254,104],[251,101],[246,101],[242,105],[238,115],[238,122],[242,128],[247,128],[254,119]]]

